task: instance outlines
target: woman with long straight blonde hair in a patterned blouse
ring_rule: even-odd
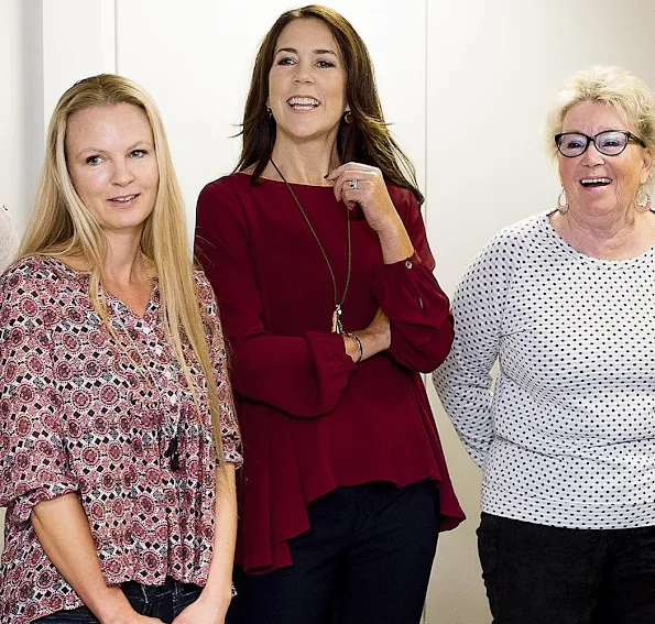
[[[220,623],[239,433],[164,129],[119,76],[53,114],[0,282],[0,621]]]

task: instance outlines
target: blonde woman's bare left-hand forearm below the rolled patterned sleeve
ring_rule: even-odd
[[[100,569],[86,514],[75,494],[43,501],[32,510],[32,526],[43,550],[77,595],[103,624],[128,621],[133,613],[118,587]]]

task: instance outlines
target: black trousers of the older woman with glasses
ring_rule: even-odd
[[[482,514],[493,624],[654,624],[655,526],[542,526]]]

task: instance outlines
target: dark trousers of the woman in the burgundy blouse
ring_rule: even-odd
[[[236,574],[228,624],[418,624],[437,547],[434,482],[339,488],[308,515],[292,567]]]

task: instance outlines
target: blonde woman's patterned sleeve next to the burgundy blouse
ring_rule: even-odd
[[[222,440],[223,459],[240,468],[243,463],[241,455],[241,435],[234,412],[234,402],[228,375],[228,359],[220,327],[218,306],[214,291],[203,273],[197,276],[198,291],[203,302],[207,342],[210,349],[211,363],[216,375],[218,404],[220,408],[220,437]]]

